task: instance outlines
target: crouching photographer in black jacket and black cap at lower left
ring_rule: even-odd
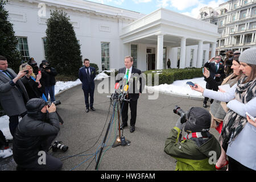
[[[60,130],[56,106],[42,98],[32,98],[26,104],[27,115],[16,127],[13,157],[17,170],[60,170],[62,162],[47,153]]]

